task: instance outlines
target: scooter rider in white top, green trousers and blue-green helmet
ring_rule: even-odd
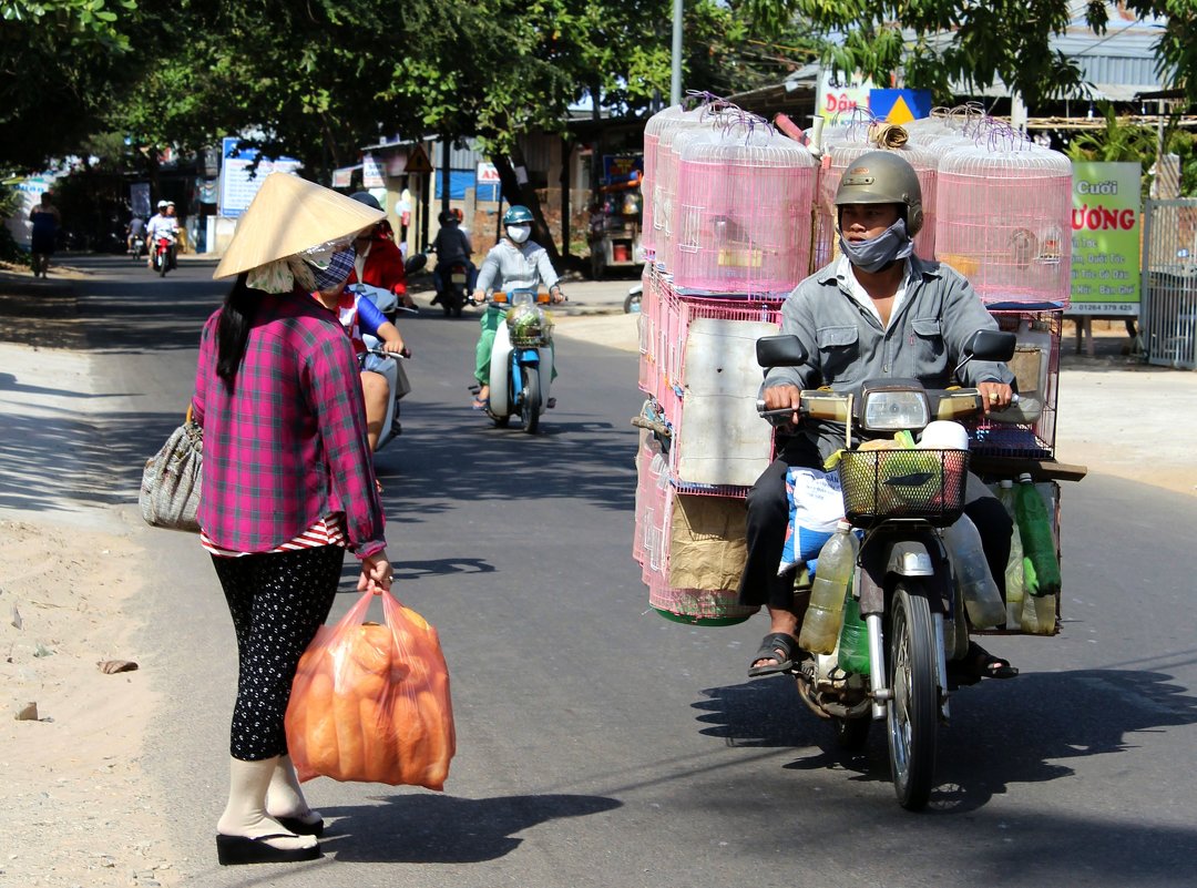
[[[548,287],[554,303],[565,302],[565,294],[558,286],[557,272],[548,260],[548,251],[529,239],[531,223],[531,211],[524,206],[512,206],[503,214],[505,237],[500,238],[482,260],[474,290],[475,303],[485,300],[486,292],[492,288],[536,290],[541,284]],[[485,410],[490,403],[491,346],[494,342],[494,332],[499,329],[505,316],[505,310],[493,305],[482,314],[482,333],[478,337],[475,349],[474,378],[479,384],[473,405],[475,410]],[[555,369],[553,373],[555,376]]]

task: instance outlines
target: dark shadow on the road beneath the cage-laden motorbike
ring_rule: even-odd
[[[816,770],[840,765],[856,780],[888,781],[885,724],[874,722],[865,755],[834,747],[831,722],[798,699],[791,679],[771,679],[703,692],[693,704],[701,730],[735,747],[815,747],[822,752],[784,765]],[[1025,674],[953,694],[952,723],[938,735],[937,789],[931,810],[967,814],[1011,784],[1071,777],[1069,759],[1136,752],[1128,735],[1197,724],[1197,698],[1157,671],[1095,669]],[[1131,765],[1128,764],[1128,767]]]

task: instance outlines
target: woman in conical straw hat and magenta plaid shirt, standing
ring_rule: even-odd
[[[299,789],[284,717],[299,656],[328,616],[345,551],[358,588],[390,588],[383,511],[353,346],[311,298],[348,275],[338,255],[382,212],[277,172],[242,217],[215,278],[236,275],[200,339],[200,542],[237,635],[221,864],[320,856],[323,821]]]

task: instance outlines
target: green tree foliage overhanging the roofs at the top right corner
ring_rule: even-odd
[[[1081,86],[1075,61],[1051,49],[1064,34],[1071,0],[747,0],[758,20],[773,32],[795,23],[813,25],[830,38],[826,60],[838,71],[888,84],[950,95],[950,83],[988,87],[1001,78],[1028,104],[1061,97]],[[1192,0],[1125,0],[1138,16],[1163,16],[1156,44],[1163,83],[1185,87],[1197,101],[1197,4]],[[1106,32],[1104,0],[1089,0],[1086,22]]]

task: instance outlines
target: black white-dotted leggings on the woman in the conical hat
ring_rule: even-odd
[[[299,657],[328,618],[345,549],[321,546],[212,556],[237,633],[237,703],[229,750],[242,761],[286,755],[282,719]]]

